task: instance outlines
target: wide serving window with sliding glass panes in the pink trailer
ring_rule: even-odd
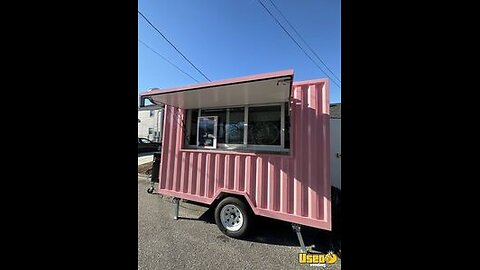
[[[186,110],[185,148],[288,152],[288,103]]]

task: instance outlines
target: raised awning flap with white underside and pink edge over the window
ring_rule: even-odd
[[[272,73],[273,74],[273,73]],[[277,77],[261,75],[193,85],[173,90],[156,90],[142,94],[155,104],[167,104],[182,109],[241,106],[287,102],[290,98],[293,71],[275,73]]]

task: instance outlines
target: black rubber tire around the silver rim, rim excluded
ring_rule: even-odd
[[[231,231],[228,230],[223,224],[222,220],[220,218],[220,214],[222,212],[222,209],[227,206],[227,205],[234,205],[236,206],[239,211],[241,212],[243,216],[243,224],[238,230]],[[215,208],[215,223],[217,224],[217,227],[220,229],[222,233],[224,233],[227,236],[233,237],[233,238],[242,238],[245,237],[250,228],[252,227],[252,222],[253,222],[253,215],[245,203],[235,197],[227,197],[223,199]]]

